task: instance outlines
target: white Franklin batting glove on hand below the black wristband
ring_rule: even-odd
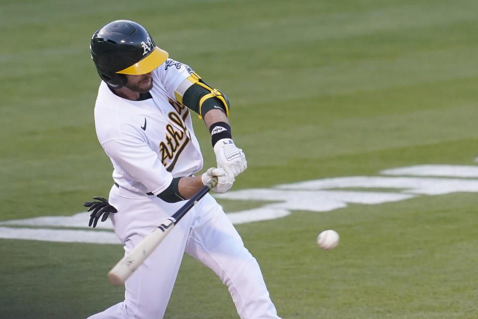
[[[214,153],[216,153],[218,167],[231,171],[234,177],[247,167],[244,153],[241,149],[238,149],[231,139],[219,140],[214,146]]]

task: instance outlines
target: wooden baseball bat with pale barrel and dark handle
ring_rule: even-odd
[[[179,222],[179,220],[200,200],[206,195],[211,188],[216,186],[218,178],[213,177],[206,186],[189,199],[184,206],[178,209],[171,217],[166,219],[155,230],[149,233],[146,237],[134,247],[129,254],[125,255],[108,273],[108,280],[115,286],[124,284],[124,281],[131,276],[131,274],[148,258],[149,255],[156,249],[156,247],[168,235],[171,229]]]

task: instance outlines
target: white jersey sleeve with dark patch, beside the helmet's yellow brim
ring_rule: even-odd
[[[167,59],[164,67],[157,70],[159,80],[171,99],[178,100],[178,94],[182,96],[195,82],[191,77],[194,71],[188,65],[173,59]],[[187,80],[188,78],[191,80]]]

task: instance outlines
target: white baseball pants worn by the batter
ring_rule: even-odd
[[[110,214],[128,253],[184,203],[165,204],[112,187]],[[259,265],[244,247],[221,206],[209,194],[178,222],[164,241],[125,282],[125,300],[89,319],[161,319],[171,297],[183,253],[212,269],[228,286],[241,319],[278,319]]]

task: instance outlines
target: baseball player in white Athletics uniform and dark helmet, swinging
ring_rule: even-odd
[[[112,206],[106,199],[98,202],[103,209],[94,210],[90,225],[101,213],[102,220],[110,213],[127,254],[213,176],[218,177],[213,190],[226,192],[247,163],[232,140],[226,95],[189,66],[169,59],[141,25],[108,23],[94,33],[91,55],[103,80],[95,105],[96,132],[113,164],[115,184]],[[198,175],[203,158],[191,111],[209,129],[218,165]],[[279,318],[256,260],[209,194],[126,280],[124,301],[90,318],[163,318],[184,252],[228,286],[240,318]]]

